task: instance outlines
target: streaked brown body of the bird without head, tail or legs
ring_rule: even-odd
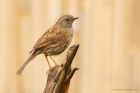
[[[57,55],[69,46],[72,37],[72,28],[53,26],[37,41],[33,50],[39,50],[40,53],[46,52],[48,55]]]

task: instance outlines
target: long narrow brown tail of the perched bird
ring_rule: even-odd
[[[22,71],[24,70],[24,68],[27,66],[27,64],[31,61],[31,60],[33,60],[35,57],[36,57],[36,53],[35,52],[33,52],[31,55],[30,55],[30,57],[26,60],[26,62],[20,67],[20,69],[17,71],[17,75],[21,75],[21,73],[22,73]]]

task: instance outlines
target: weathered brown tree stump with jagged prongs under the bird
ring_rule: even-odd
[[[78,68],[71,68],[78,48],[79,44],[71,46],[64,63],[48,71],[47,83],[43,93],[68,93],[70,80],[75,71],[78,70]]]

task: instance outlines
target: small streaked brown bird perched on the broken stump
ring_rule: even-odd
[[[64,15],[60,17],[56,24],[49,28],[48,31],[45,32],[41,38],[39,38],[30,52],[30,57],[21,66],[16,74],[20,75],[27,64],[37,55],[42,53],[45,55],[48,65],[51,68],[47,57],[50,56],[52,59],[51,56],[62,53],[70,45],[73,37],[72,24],[75,19],[78,19],[78,17],[73,17],[72,15]],[[53,62],[55,63],[54,60]]]

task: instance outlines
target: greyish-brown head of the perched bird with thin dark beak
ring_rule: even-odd
[[[58,19],[56,24],[62,27],[69,28],[72,27],[72,24],[76,19],[78,19],[78,17],[73,17],[72,15],[63,15]]]

